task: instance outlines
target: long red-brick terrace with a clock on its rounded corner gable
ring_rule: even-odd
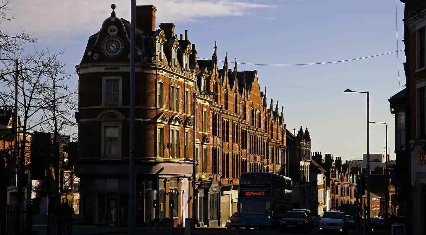
[[[236,61],[228,68],[226,55],[219,68],[216,45],[212,59],[198,60],[187,30],[178,36],[173,23],[157,28],[156,11],[155,6],[136,6],[137,221],[172,217],[174,226],[184,226],[184,219],[193,217],[196,200],[197,226],[224,226],[237,212],[242,172],[286,174],[284,108],[267,100],[256,70],[237,71]],[[80,216],[87,224],[127,223],[130,22],[115,14],[112,10],[99,32],[89,37],[76,66],[75,169],[81,180]],[[210,91],[217,96],[200,95]],[[199,95],[195,114],[194,93]]]

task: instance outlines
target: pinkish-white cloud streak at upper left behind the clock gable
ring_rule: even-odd
[[[11,0],[8,14],[15,15],[15,20],[3,21],[0,27],[9,32],[25,29],[35,32],[37,37],[96,32],[111,13],[111,3],[117,5],[118,17],[130,20],[130,0]],[[137,0],[136,4],[155,5],[157,25],[203,17],[244,16],[256,9],[272,7],[238,0]]]

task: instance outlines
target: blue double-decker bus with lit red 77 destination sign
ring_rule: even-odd
[[[245,228],[279,226],[285,212],[293,209],[291,178],[270,172],[241,174],[238,219]]]

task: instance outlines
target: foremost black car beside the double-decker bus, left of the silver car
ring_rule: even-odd
[[[309,216],[302,211],[285,212],[283,218],[279,222],[279,230],[284,232],[287,229],[309,229],[312,230],[312,223]]]

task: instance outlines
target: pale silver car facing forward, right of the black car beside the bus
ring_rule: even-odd
[[[335,231],[335,232],[348,232],[348,225],[344,212],[329,211],[324,212],[320,223],[320,231]]]

